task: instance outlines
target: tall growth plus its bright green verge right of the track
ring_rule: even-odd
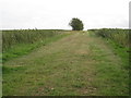
[[[130,29],[118,29],[118,28],[103,28],[103,29],[90,29],[91,34],[95,34],[105,38],[105,41],[110,44],[114,48],[115,54],[121,58],[123,62],[123,68],[126,70],[130,69],[130,53],[131,53],[131,42],[130,42]]]

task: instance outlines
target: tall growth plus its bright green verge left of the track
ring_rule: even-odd
[[[27,54],[32,50],[63,36],[64,32],[58,29],[3,30],[2,62]]]

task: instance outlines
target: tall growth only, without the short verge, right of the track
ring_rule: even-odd
[[[114,40],[122,47],[129,47],[129,29],[118,29],[118,28],[103,28],[103,29],[91,29],[97,36],[102,36]]]

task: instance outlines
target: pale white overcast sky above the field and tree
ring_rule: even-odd
[[[128,28],[130,0],[0,0],[0,28],[71,29],[72,17],[90,28]]]

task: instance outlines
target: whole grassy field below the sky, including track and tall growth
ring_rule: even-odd
[[[4,30],[3,96],[128,96],[129,30]]]

